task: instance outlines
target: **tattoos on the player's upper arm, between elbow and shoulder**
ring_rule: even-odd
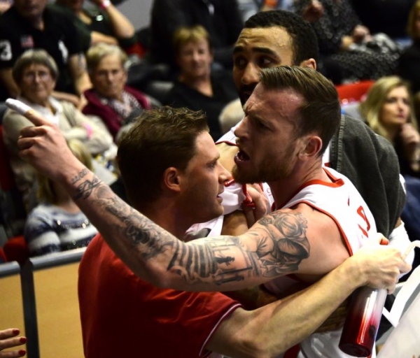
[[[207,238],[200,245],[176,243],[168,270],[190,282],[211,278],[218,285],[244,280],[246,275],[274,278],[297,271],[302,259],[309,257],[304,215],[276,211],[259,224],[248,231],[255,239],[251,247],[235,236]]]

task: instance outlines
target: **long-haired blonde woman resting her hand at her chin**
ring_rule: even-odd
[[[420,134],[409,85],[398,76],[380,78],[359,108],[370,127],[394,145],[407,190],[401,217],[410,240],[417,240],[420,237]],[[419,253],[417,250],[413,268],[420,263]]]

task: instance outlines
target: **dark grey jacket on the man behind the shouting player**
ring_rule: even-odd
[[[388,237],[405,204],[391,143],[362,121],[342,116],[339,131],[330,141],[330,166],[353,182],[372,211],[378,232]]]

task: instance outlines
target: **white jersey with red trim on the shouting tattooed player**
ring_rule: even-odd
[[[324,170],[332,182],[321,180],[307,182],[281,208],[290,208],[298,203],[306,203],[325,213],[337,224],[346,248],[349,250],[349,255],[353,255],[353,252],[356,252],[368,237],[372,238],[377,234],[373,215],[348,178],[333,169],[324,168]],[[334,255],[334,252],[325,252],[325,255]],[[297,279],[290,275],[267,282],[265,286],[270,292],[281,294],[283,290],[296,282]],[[312,334],[300,343],[301,351],[298,357],[351,357],[339,350],[340,336],[341,329]],[[372,357],[375,355],[372,354]]]

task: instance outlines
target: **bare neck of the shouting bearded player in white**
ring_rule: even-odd
[[[276,207],[281,208],[281,206],[287,203],[292,196],[297,193],[297,190],[300,189],[302,185],[310,180],[330,182],[331,180],[322,169],[321,163],[321,158],[319,158],[310,164],[296,165],[287,178],[268,182],[268,185],[272,190],[274,201],[276,202]]]

